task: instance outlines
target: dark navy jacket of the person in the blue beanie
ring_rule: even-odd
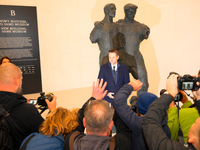
[[[127,105],[127,98],[133,91],[133,87],[129,84],[125,84],[115,95],[114,100],[112,101],[113,107],[119,114],[123,122],[130,128],[132,131],[132,150],[147,150],[147,145],[144,140],[142,133],[142,120],[143,117],[138,116],[129,105]],[[171,138],[169,127],[167,126],[167,119],[162,121],[162,128],[165,133]]]

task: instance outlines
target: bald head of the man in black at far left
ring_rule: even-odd
[[[16,93],[22,82],[22,73],[19,67],[12,63],[0,66],[0,90]]]

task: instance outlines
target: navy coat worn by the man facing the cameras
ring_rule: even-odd
[[[119,63],[117,64],[117,75],[115,82],[110,62],[101,66],[98,79],[101,78],[103,78],[104,82],[107,81],[107,86],[105,90],[108,90],[108,92],[113,92],[115,94],[124,84],[130,82],[128,67],[124,64]],[[104,100],[112,103],[113,99],[105,96]]]

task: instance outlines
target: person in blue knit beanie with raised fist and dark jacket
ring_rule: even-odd
[[[137,110],[139,115],[135,113],[129,105],[127,105],[127,98],[132,91],[137,91],[142,87],[142,83],[139,80],[133,79],[129,84],[125,84],[116,94],[112,104],[120,118],[132,131],[132,147],[134,150],[147,150],[148,147],[145,143],[144,136],[142,133],[142,120],[145,116],[149,105],[156,100],[158,97],[152,93],[144,92],[139,95],[137,100]],[[167,116],[162,122],[163,130],[170,137],[170,130],[167,126]]]

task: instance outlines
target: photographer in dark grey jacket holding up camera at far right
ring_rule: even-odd
[[[170,103],[178,94],[178,75],[172,74],[166,82],[168,94],[163,94],[159,99],[155,100],[144,116],[142,129],[144,138],[150,150],[172,150],[172,149],[200,149],[200,117],[191,126],[188,133],[188,143],[181,144],[178,141],[169,139],[161,128],[161,122],[166,115]],[[196,100],[200,100],[200,89],[193,91]],[[197,106],[199,109],[199,105]]]

